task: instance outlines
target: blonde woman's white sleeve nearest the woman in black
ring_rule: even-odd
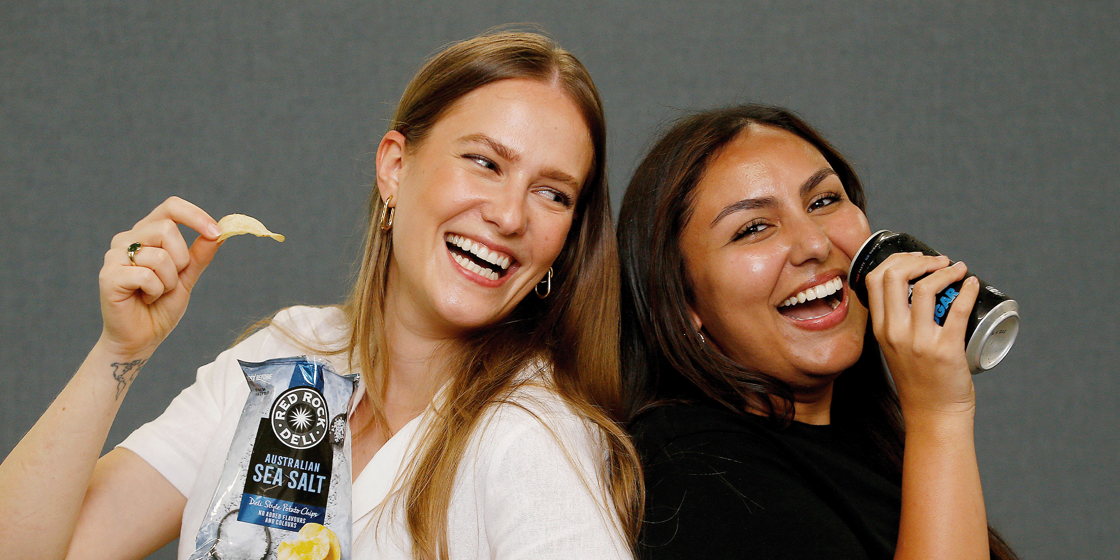
[[[506,405],[487,431],[477,491],[491,558],[631,558],[598,474],[605,449],[582,419]]]

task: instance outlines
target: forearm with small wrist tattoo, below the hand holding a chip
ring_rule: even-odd
[[[150,353],[148,353],[150,354]],[[99,344],[0,464],[0,549],[63,558],[113,418],[148,358]]]

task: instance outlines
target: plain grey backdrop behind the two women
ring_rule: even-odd
[[[439,46],[520,21],[595,76],[616,206],[665,120],[782,104],[855,161],[872,226],[1015,297],[1019,340],[977,377],[989,515],[1027,559],[1120,557],[1116,1],[4,1],[0,451],[96,339],[110,237],[169,195],[288,242],[222,249],[110,446],[253,319],[339,301],[404,84]]]

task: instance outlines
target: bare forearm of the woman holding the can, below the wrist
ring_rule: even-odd
[[[972,410],[906,418],[896,560],[987,559]]]

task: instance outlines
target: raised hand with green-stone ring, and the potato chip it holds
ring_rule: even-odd
[[[120,356],[147,357],[179,323],[222,241],[242,233],[283,241],[249,216],[231,214],[223,222],[224,228],[198,206],[172,196],[113,236],[99,277],[103,329],[97,344]],[[179,224],[199,233],[189,248]]]

